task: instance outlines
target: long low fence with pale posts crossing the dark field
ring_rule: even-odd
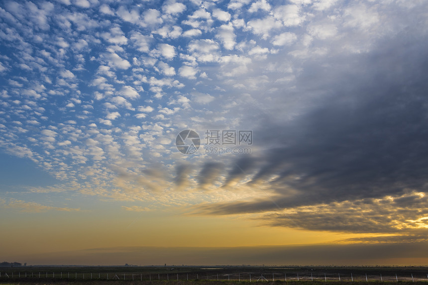
[[[0,271],[0,280],[16,279],[66,279],[66,280],[125,280],[125,281],[233,281],[233,282],[428,282],[428,274],[423,273],[399,273],[399,274],[361,274],[361,273],[91,273],[91,272],[62,272],[62,271],[37,271],[16,272]]]

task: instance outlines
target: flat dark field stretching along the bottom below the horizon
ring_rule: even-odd
[[[352,284],[428,285],[427,267],[0,267],[0,285]]]

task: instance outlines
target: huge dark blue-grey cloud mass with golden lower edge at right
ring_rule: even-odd
[[[259,116],[264,127],[255,133],[268,147],[248,184],[268,183],[280,207],[331,207],[265,216],[273,225],[293,226],[292,218],[306,229],[394,232],[397,222],[411,227],[406,220],[428,214],[427,199],[409,194],[428,185],[428,38],[415,28],[378,41],[367,54],[305,62],[297,90],[318,95],[305,112],[284,122]],[[232,169],[228,176],[236,177]],[[275,203],[266,198],[199,210],[263,212],[276,210]]]

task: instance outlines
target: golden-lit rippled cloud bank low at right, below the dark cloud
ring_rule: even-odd
[[[291,213],[266,214],[260,219],[273,226],[293,226],[309,230],[328,230],[354,233],[397,233],[415,235],[417,227],[427,226],[427,198],[397,207],[387,199],[370,202],[344,201],[293,208]],[[290,219],[295,224],[290,223]],[[424,230],[424,229],[423,229]],[[410,238],[410,237],[409,237]]]

